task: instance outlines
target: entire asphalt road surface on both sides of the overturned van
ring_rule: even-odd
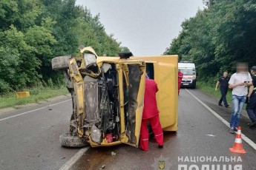
[[[179,129],[177,133],[165,133],[163,149],[157,148],[154,139],[150,140],[149,152],[125,144],[89,148],[70,169],[159,169],[159,160],[165,160],[165,169],[171,170],[181,165],[201,168],[217,164],[221,167],[230,165],[232,168],[241,164],[244,170],[255,170],[255,149],[243,141],[246,154],[229,152],[235,135],[229,134],[228,126],[193,95],[229,122],[230,108],[217,106],[216,99],[198,89],[182,89],[179,96]],[[67,101],[69,99],[63,98],[0,115],[0,169],[59,169],[76,156],[79,149],[67,149],[59,145],[59,135],[68,131],[72,106],[71,101]],[[54,103],[56,105],[49,106]],[[30,112],[33,109],[38,110]],[[24,115],[19,115],[21,113]],[[10,118],[15,115],[18,116]],[[248,129],[247,122],[249,119],[244,116],[241,121],[242,132],[255,143],[256,130]],[[112,156],[111,152],[116,155]],[[211,161],[194,162],[194,158],[197,160],[200,157],[201,160],[211,158]],[[217,162],[213,161],[214,157]],[[229,160],[232,157],[236,161],[220,161],[223,157]]]

